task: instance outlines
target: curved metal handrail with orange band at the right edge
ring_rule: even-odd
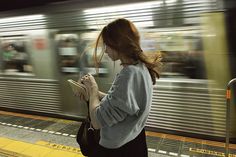
[[[225,142],[225,157],[229,156],[229,131],[230,131],[230,99],[231,99],[231,85],[236,83],[236,78],[229,81],[226,90],[226,142]]]

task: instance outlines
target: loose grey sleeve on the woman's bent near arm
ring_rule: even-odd
[[[112,126],[127,116],[136,116],[140,110],[134,86],[137,85],[135,73],[123,70],[113,82],[108,94],[96,108],[96,117],[101,127]]]

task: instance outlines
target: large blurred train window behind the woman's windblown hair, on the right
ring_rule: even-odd
[[[204,53],[199,29],[150,29],[142,32],[147,54],[162,55],[162,77],[205,79]]]

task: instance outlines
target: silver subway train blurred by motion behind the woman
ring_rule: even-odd
[[[0,109],[83,119],[86,103],[67,80],[92,73],[101,91],[109,89],[120,63],[104,56],[96,70],[94,42],[108,22],[127,18],[143,51],[162,55],[147,129],[223,140],[226,85],[235,76],[225,15],[223,0],[81,0],[2,11]]]

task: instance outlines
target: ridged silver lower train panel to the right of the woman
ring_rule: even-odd
[[[208,81],[191,81],[157,82],[147,126],[224,137],[225,90],[210,87]]]

